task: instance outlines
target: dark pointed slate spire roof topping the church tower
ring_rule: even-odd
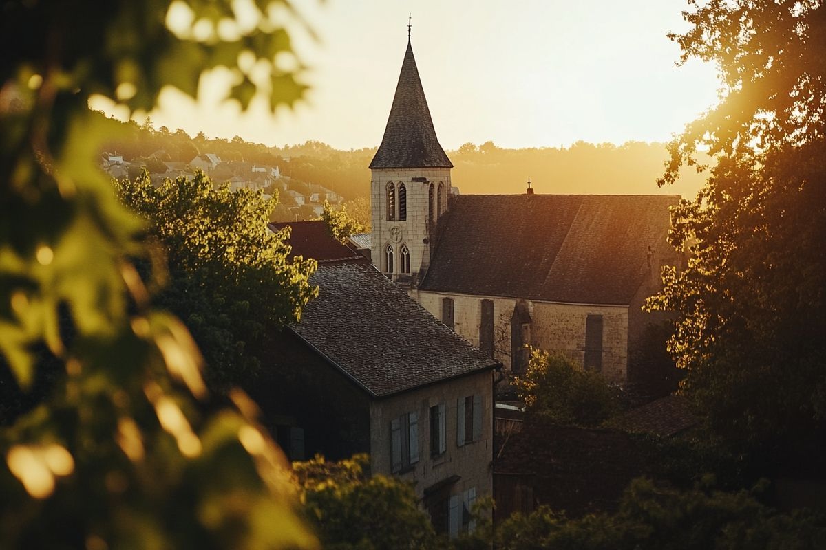
[[[452,168],[453,163],[436,138],[419,69],[415,66],[413,48],[408,40],[387,128],[370,168],[441,167]]]

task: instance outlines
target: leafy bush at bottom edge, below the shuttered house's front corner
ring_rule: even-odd
[[[338,463],[319,456],[293,463],[306,517],[323,547],[434,548],[433,526],[419,509],[413,487],[396,477],[368,476],[368,465],[366,454]]]

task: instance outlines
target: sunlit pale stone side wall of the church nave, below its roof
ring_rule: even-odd
[[[419,290],[416,298],[434,317],[442,318],[442,299],[453,299],[454,330],[479,346],[482,299],[493,301],[496,360],[511,372],[510,317],[516,299]],[[529,343],[542,350],[558,351],[582,365],[585,359],[585,326],[588,315],[602,316],[602,374],[624,383],[628,372],[629,311],[626,306],[548,303],[525,300],[531,317]]]

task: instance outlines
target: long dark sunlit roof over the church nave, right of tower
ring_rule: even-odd
[[[628,304],[674,195],[459,195],[423,290]]]

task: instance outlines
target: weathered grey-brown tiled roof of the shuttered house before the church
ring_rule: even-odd
[[[373,396],[497,364],[369,264],[321,265],[310,281],[318,298],[292,330]]]

